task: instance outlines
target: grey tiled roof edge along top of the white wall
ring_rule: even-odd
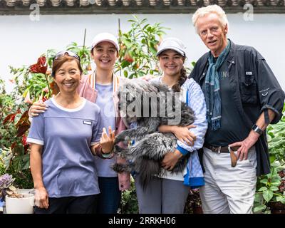
[[[226,12],[243,11],[244,4],[252,4],[256,13],[285,14],[285,0],[0,0],[0,14],[25,14],[28,6],[38,4],[41,14],[157,14],[192,13],[200,6],[218,4]],[[63,10],[64,9],[64,10]]]

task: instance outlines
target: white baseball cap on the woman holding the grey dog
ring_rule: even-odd
[[[175,37],[169,37],[165,38],[161,43],[160,46],[157,48],[156,56],[159,56],[162,51],[165,50],[173,50],[180,53],[181,56],[185,56],[185,45],[184,43],[179,39]]]

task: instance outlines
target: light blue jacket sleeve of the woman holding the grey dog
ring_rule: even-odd
[[[190,80],[191,84],[188,88],[188,106],[192,108],[195,113],[195,121],[193,125],[196,126],[196,128],[191,128],[190,131],[195,134],[196,140],[192,146],[189,146],[185,144],[185,142],[177,140],[177,150],[179,150],[183,155],[186,155],[188,152],[193,152],[203,147],[204,135],[206,134],[208,127],[204,94],[200,86],[195,83],[193,79]]]

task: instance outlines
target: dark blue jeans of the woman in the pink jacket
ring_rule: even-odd
[[[120,204],[118,177],[98,177],[100,195],[98,214],[116,214]]]

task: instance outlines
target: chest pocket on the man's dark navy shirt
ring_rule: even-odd
[[[250,73],[239,76],[239,88],[241,90],[242,103],[244,104],[257,103],[257,83],[252,72]]]

